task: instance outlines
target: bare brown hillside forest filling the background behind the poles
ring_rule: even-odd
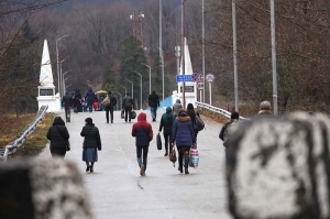
[[[201,37],[201,1],[185,2],[186,36],[195,73],[212,73],[212,105],[234,109],[232,1],[205,0],[206,37]],[[279,113],[295,110],[330,112],[330,1],[276,0],[276,44]],[[130,15],[141,11],[143,46],[132,35]],[[182,42],[182,3],[163,0],[165,97],[177,89],[175,46]],[[273,99],[271,12],[268,0],[237,0],[240,110],[257,112],[260,101]],[[37,110],[43,42],[47,40],[54,85],[56,41],[68,91],[89,87],[124,94],[134,84],[147,106],[148,68],[152,90],[162,96],[157,0],[2,0],[0,2],[1,113]],[[209,102],[208,86],[206,102]],[[139,99],[138,99],[139,100]]]

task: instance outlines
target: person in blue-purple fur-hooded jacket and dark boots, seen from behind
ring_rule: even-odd
[[[185,174],[189,174],[189,152],[191,145],[196,149],[196,140],[195,132],[193,128],[193,122],[190,117],[188,116],[185,109],[180,109],[178,116],[176,117],[176,121],[174,123],[173,136],[172,136],[172,145],[176,144],[177,151],[179,154],[178,157],[178,169],[183,173],[183,162],[185,160]]]

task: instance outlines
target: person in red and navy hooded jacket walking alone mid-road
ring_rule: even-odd
[[[132,136],[135,136],[136,157],[141,176],[145,176],[148,145],[153,140],[153,135],[152,125],[146,122],[146,114],[141,112],[138,117],[138,122],[132,128]],[[142,154],[143,158],[141,158]]]

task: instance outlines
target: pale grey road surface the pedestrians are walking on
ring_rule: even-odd
[[[150,111],[145,112],[156,134],[164,110],[158,110],[156,122],[151,122]],[[65,118],[64,112],[58,114]],[[85,173],[86,165],[81,161],[84,139],[80,131],[87,117],[91,117],[99,128],[102,141],[95,173]],[[72,122],[66,123],[72,151],[65,158],[81,169],[95,218],[230,219],[224,150],[218,138],[221,125],[206,121],[206,131],[198,134],[199,167],[189,168],[189,175],[180,174],[177,163],[173,167],[168,157],[164,156],[164,146],[163,151],[157,151],[154,136],[150,145],[146,176],[142,177],[136,162],[135,139],[131,136],[134,121],[125,123],[120,119],[120,111],[114,111],[114,123],[106,123],[105,112],[101,111],[73,113]],[[41,156],[51,157],[48,145]]]

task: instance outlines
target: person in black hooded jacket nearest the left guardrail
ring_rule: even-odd
[[[64,158],[70,135],[61,117],[54,118],[53,125],[50,127],[46,138],[51,141],[52,157]]]

